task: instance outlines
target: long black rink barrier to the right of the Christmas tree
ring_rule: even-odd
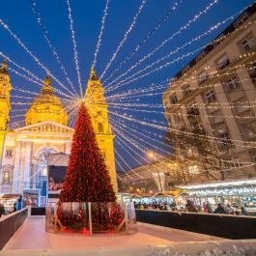
[[[226,239],[256,239],[255,216],[138,209],[135,212],[137,220],[144,223]]]

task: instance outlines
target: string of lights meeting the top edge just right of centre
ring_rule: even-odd
[[[128,40],[128,35],[131,33],[134,25],[136,24],[136,20],[138,18],[138,15],[141,13],[141,11],[143,10],[143,7],[145,6],[147,0],[142,0],[141,5],[139,6],[138,12],[137,14],[135,14],[135,16],[132,19],[132,22],[130,24],[130,26],[128,27],[128,31],[125,33],[125,36],[123,38],[123,40],[118,44],[118,47],[116,49],[116,51],[114,52],[113,56],[111,57],[110,61],[108,62],[108,64],[106,65],[104,71],[101,73],[100,75],[100,80],[102,80],[104,74],[106,71],[108,71],[108,69],[110,68],[112,62],[115,60],[117,54],[119,53],[120,49],[122,48],[122,46],[124,45],[124,43],[126,43],[126,41]]]

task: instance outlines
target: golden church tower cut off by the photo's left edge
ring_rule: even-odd
[[[7,61],[4,60],[0,68],[0,162],[4,147],[5,134],[7,133],[8,123],[10,121],[10,92],[12,85],[8,72]]]

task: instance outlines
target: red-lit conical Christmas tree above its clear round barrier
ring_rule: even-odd
[[[71,144],[71,157],[60,195],[61,202],[114,202],[116,200],[91,117],[80,105]]]

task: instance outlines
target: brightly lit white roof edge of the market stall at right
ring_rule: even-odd
[[[185,189],[199,189],[199,188],[241,186],[241,185],[256,185],[256,179],[244,180],[244,181],[220,182],[220,183],[202,184],[202,185],[179,185],[178,187],[182,187]]]

